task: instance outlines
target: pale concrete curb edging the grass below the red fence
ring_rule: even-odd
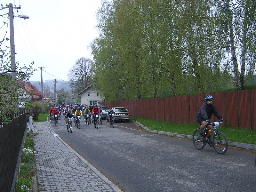
[[[185,135],[185,134],[178,134],[178,133],[151,130],[151,129],[148,129],[146,126],[140,124],[137,121],[134,121],[134,120],[130,120],[130,121],[134,122],[135,124],[140,126],[142,129],[144,129],[144,130],[146,130],[147,132],[150,132],[150,133],[157,133],[157,134],[168,135],[168,136],[172,136],[172,137],[179,137],[179,138],[183,138],[183,139],[192,140],[192,135]],[[234,146],[234,147],[239,147],[239,148],[256,150],[256,145],[247,144],[247,143],[238,143],[238,142],[228,141],[228,145],[229,146]]]

